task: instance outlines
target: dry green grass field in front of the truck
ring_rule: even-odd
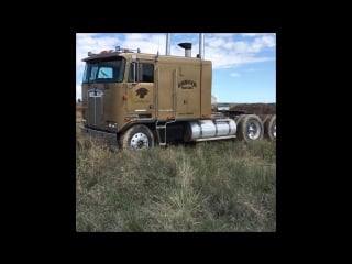
[[[275,232],[276,145],[111,152],[78,135],[76,193],[78,232]]]

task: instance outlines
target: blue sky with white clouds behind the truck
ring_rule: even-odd
[[[199,53],[199,33],[172,33],[170,55],[185,56],[177,44],[190,42]],[[140,48],[166,54],[166,33],[76,33],[76,99],[81,98],[88,52]],[[205,59],[212,61],[216,102],[276,102],[276,33],[205,33]]]

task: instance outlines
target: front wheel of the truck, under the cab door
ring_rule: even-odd
[[[144,124],[128,129],[120,138],[120,146],[128,150],[146,150],[154,146],[154,135]]]

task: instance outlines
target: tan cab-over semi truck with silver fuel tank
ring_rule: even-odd
[[[112,146],[141,150],[172,142],[263,136],[276,141],[276,114],[211,106],[212,63],[191,44],[185,56],[116,47],[82,61],[82,128]]]

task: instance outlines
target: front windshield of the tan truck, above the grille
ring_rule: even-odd
[[[86,63],[84,84],[120,82],[123,79],[125,59],[122,57],[97,58]]]

